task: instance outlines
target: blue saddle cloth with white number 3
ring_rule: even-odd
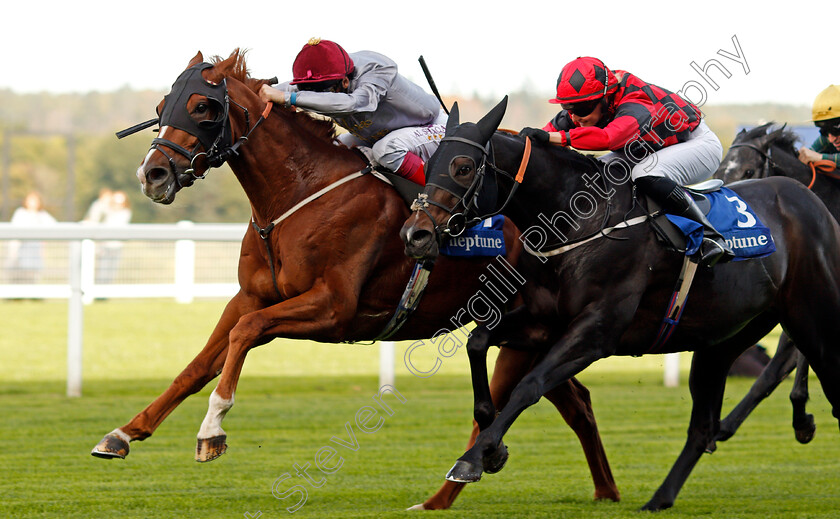
[[[705,195],[712,204],[706,217],[726,238],[727,245],[735,253],[732,261],[761,258],[776,252],[770,229],[761,223],[753,210],[734,191],[722,187],[720,191]],[[669,214],[667,217],[685,234],[686,255],[697,252],[703,241],[703,226],[681,216]]]

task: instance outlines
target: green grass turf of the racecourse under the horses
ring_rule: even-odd
[[[335,446],[331,437],[347,437],[345,424],[371,405],[377,390],[376,348],[276,341],[255,350],[225,420],[228,452],[212,463],[192,459],[212,383],[184,402],[152,438],[132,443],[126,460],[89,455],[103,434],[168,385],[203,344],[221,306],[107,302],[86,307],[84,397],[68,399],[63,396],[66,305],[0,304],[4,321],[14,323],[0,337],[0,517],[289,516],[285,508],[298,496],[277,499],[272,485],[294,473],[294,464],[314,465],[321,447]],[[307,488],[307,501],[294,516],[416,517],[403,509],[438,488],[466,443],[472,396],[462,353],[445,359],[441,372],[427,379],[398,370],[396,386],[406,402],[392,401],[395,412],[383,415],[381,429],[364,434],[353,424],[359,448],[337,447],[341,468],[323,475],[310,467],[310,474],[324,478],[321,487],[297,477],[279,487]],[[398,350],[398,363],[400,358]],[[637,510],[682,448],[690,412],[685,372],[679,388],[666,389],[660,360],[608,359],[580,377],[592,392],[620,503],[591,500],[592,483],[577,440],[543,401],[526,410],[506,436],[511,458],[505,469],[470,485],[451,510],[431,514],[646,517]],[[351,374],[334,372],[342,368]],[[701,459],[675,508],[661,515],[838,517],[837,422],[812,381],[809,410],[818,429],[810,445],[793,439],[790,381],[785,381],[733,439]],[[730,381],[725,410],[751,382]]]

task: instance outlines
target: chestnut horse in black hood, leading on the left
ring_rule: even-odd
[[[204,349],[163,394],[103,438],[92,452],[97,457],[124,458],[130,441],[151,436],[186,397],[221,374],[196,451],[199,461],[215,459],[226,449],[221,421],[233,405],[249,349],[276,337],[333,343],[374,339],[394,314],[412,272],[414,262],[403,254],[399,239],[410,214],[405,202],[371,174],[348,179],[365,164],[334,143],[334,125],[293,109],[264,111],[256,92],[267,81],[248,75],[239,50],[212,61],[203,63],[198,53],[158,106],[160,133],[137,176],[149,198],[169,204],[211,165],[228,162],[254,220],[242,242],[240,290]],[[329,187],[335,189],[312,196]],[[508,223],[508,260],[514,265],[521,252],[517,235]],[[419,307],[392,339],[429,338],[451,329],[453,317],[460,323],[468,300],[485,286],[487,276],[477,272],[489,265],[485,258],[441,258]],[[503,308],[504,301],[492,304]],[[493,377],[498,406],[533,361],[530,353],[502,350],[500,375]],[[588,390],[572,379],[545,396],[580,439],[595,497],[618,500]],[[473,438],[477,432],[476,426]],[[462,487],[447,482],[422,507],[447,508]]]

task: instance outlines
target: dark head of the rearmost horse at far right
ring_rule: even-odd
[[[784,126],[768,133],[768,129],[774,124],[770,122],[749,131],[738,132],[715,172],[715,178],[729,184],[738,180],[771,176],[774,164],[770,147],[782,145],[786,147],[786,151],[791,151],[796,139],[795,134],[786,130]]]

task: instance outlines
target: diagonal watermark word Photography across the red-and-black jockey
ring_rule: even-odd
[[[737,35],[732,36],[732,45],[734,52],[720,49],[717,54],[739,64],[743,68],[744,74],[749,74],[750,67]],[[719,73],[727,79],[732,77],[729,69],[715,58],[706,61],[702,67],[695,61],[692,61],[689,66],[700,76],[700,80],[715,91],[720,89],[720,85],[717,83],[719,79],[716,80],[713,73],[715,76]],[[730,66],[732,65],[730,64]],[[690,79],[683,83],[677,95],[697,107],[698,118],[703,118],[700,107],[706,104],[709,98],[703,83]],[[657,150],[654,148],[654,144],[660,147],[664,144],[664,141],[656,132],[656,128],[664,126],[667,130],[674,132],[686,122],[685,117],[685,114],[673,102],[663,104],[639,129],[635,137],[624,145],[620,152],[612,152],[602,157],[601,160],[606,163],[603,168],[605,178],[602,178],[601,173],[584,174],[583,180],[586,189],[571,196],[568,210],[561,209],[550,217],[542,213],[537,216],[540,223],[525,229],[519,237],[526,249],[540,251],[549,243],[566,244],[569,241],[566,233],[571,234],[579,231],[581,229],[581,225],[578,223],[580,220],[589,219],[598,213],[598,199],[609,200],[615,194],[615,189],[611,185],[622,185],[634,176],[641,176],[638,172],[636,175],[633,174],[636,168],[642,168],[645,173],[648,173],[656,167]],[[544,255],[537,255],[537,257],[543,263],[548,261],[548,258]]]

